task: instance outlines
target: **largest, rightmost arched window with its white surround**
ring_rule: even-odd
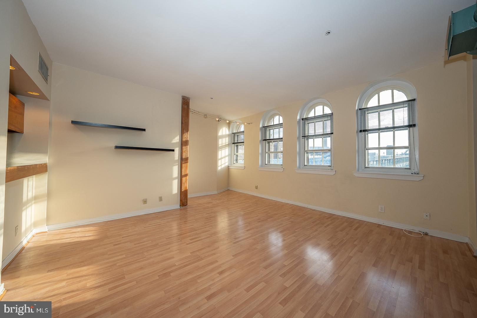
[[[418,174],[414,86],[396,79],[375,82],[357,108],[358,171]]]

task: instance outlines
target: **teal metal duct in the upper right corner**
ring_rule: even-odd
[[[447,59],[464,52],[477,54],[477,4],[450,14]]]

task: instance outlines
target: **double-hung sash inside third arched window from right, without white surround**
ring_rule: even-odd
[[[283,118],[272,115],[268,125],[262,127],[266,165],[283,164]]]

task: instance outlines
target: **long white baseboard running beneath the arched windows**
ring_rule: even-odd
[[[469,241],[469,238],[467,236],[461,236],[461,235],[457,235],[457,234],[453,234],[453,233],[447,233],[447,232],[443,232],[443,231],[432,230],[430,228],[417,227],[417,226],[407,225],[407,224],[403,224],[403,223],[397,223],[397,222],[382,220],[382,219],[378,219],[378,218],[375,218],[375,217],[369,217],[369,216],[364,216],[364,215],[358,215],[358,214],[353,214],[353,213],[328,209],[328,208],[321,207],[321,206],[316,206],[316,205],[310,205],[310,204],[301,203],[301,202],[285,200],[285,199],[277,198],[277,197],[270,196],[270,195],[261,195],[261,194],[258,194],[258,193],[245,191],[245,190],[240,190],[240,189],[234,189],[234,188],[228,188],[228,189],[232,190],[232,191],[246,193],[248,195],[259,196],[259,197],[270,199],[270,200],[290,203],[292,205],[304,206],[304,207],[308,207],[308,208],[313,209],[313,210],[318,210],[318,211],[337,214],[337,215],[343,215],[343,216],[347,216],[347,217],[352,217],[354,219],[373,222],[373,223],[377,223],[377,224],[383,224],[385,226],[392,226],[392,227],[397,227],[397,228],[402,228],[402,229],[410,228],[410,229],[417,230],[417,231],[427,232],[429,235],[432,235],[432,236],[443,237],[443,238],[447,238],[447,239],[454,240],[454,241],[457,241],[457,242],[468,243],[468,241]],[[474,248],[474,251],[475,250],[476,249]]]

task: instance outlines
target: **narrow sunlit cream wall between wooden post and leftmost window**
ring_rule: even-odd
[[[228,187],[228,123],[190,114],[188,195]]]

